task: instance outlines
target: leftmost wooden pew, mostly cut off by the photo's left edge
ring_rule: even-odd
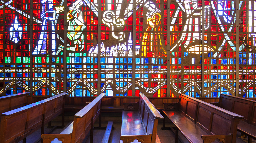
[[[4,112],[23,107],[27,104],[27,97],[30,93],[18,93],[0,97],[0,115]]]

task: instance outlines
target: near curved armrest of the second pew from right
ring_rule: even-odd
[[[211,143],[215,140],[226,143],[232,140],[232,134],[229,133],[228,135],[201,135],[201,138],[203,139],[203,143]]]

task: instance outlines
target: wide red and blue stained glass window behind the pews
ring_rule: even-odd
[[[0,94],[256,97],[255,11],[249,0],[3,0]]]

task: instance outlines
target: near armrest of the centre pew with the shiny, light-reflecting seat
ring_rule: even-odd
[[[134,140],[138,140],[138,142],[150,142],[151,141],[151,134],[150,135],[123,135],[120,136],[120,140],[123,141],[123,143],[130,143],[134,142]]]

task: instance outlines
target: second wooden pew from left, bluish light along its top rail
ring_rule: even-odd
[[[41,128],[44,133],[45,123],[62,113],[64,126],[64,102],[68,93],[59,95],[2,113],[0,124],[0,143],[13,143],[23,140]]]

